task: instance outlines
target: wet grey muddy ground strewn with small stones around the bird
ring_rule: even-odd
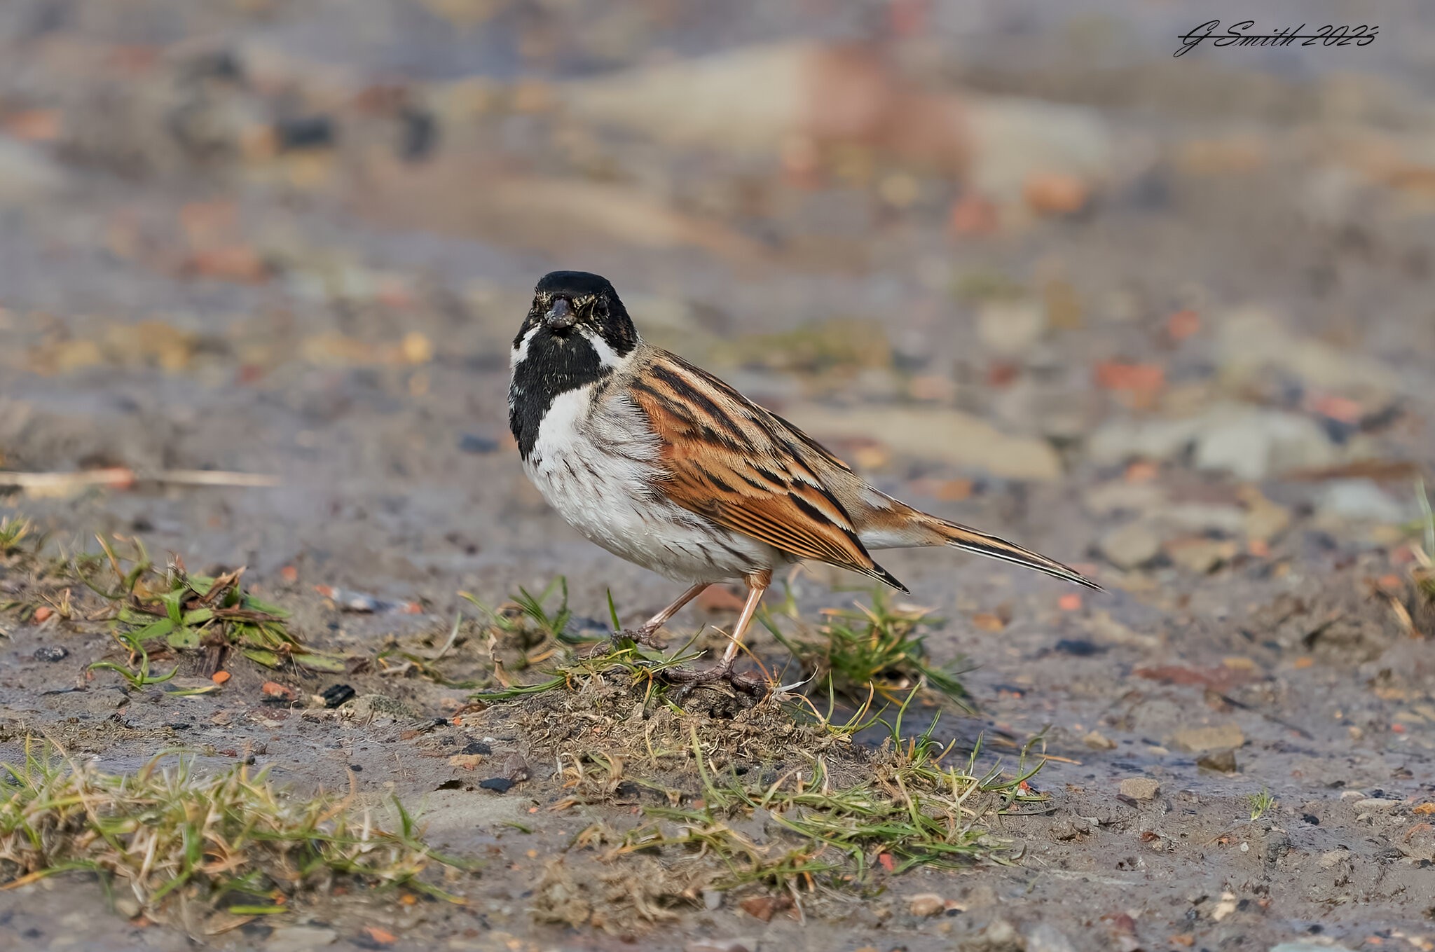
[[[1378,4],[1385,32],[1362,50],[1172,60],[1167,34],[1192,24],[1104,4],[119,6],[0,11],[0,469],[136,482],[0,490],[0,512],[56,551],[106,533],[192,569],[248,566],[306,641],[370,665],[235,660],[215,694],[126,694],[86,677],[115,658],[103,624],[10,612],[0,756],[34,733],[110,771],[172,746],[214,768],[248,751],[300,790],[352,776],[396,793],[436,846],[486,863],[451,883],[464,906],[350,895],[215,945],[376,948],[377,926],[397,948],[485,951],[1435,948],[1435,612],[1411,581],[1415,479],[1435,473],[1418,9]],[[861,37],[957,102],[1075,108],[1079,135],[1045,146],[1058,172],[987,194],[980,162],[943,168],[890,129],[818,138],[811,161],[782,138],[732,156],[563,106],[585,76],[814,36]],[[1062,165],[1088,133],[1105,158]],[[963,148],[983,161],[1023,148],[980,135],[997,141]],[[949,704],[937,736],[983,738],[983,768],[1038,736],[1050,756],[1043,803],[984,819],[1007,863],[878,872],[812,896],[801,922],[755,916],[752,890],[657,922],[551,920],[550,863],[593,875],[574,836],[637,800],[551,809],[571,791],[531,720],[464,711],[471,691],[372,660],[435,651],[476,615],[461,591],[498,604],[563,575],[594,629],[607,591],[627,621],[673,594],[564,526],[518,467],[507,347],[552,268],[608,275],[644,334],[885,492],[1106,586],[1072,598],[953,552],[884,559],[946,619],[931,657],[973,665],[977,713]],[[151,479],[191,469],[280,485]],[[815,618],[867,598],[835,588],[852,584],[818,569],[794,592]],[[715,601],[674,632],[732,617]],[[451,678],[491,675],[475,625]],[[265,700],[271,678],[298,701]],[[405,710],[304,707],[336,682]],[[486,760],[449,760],[474,744]],[[528,779],[479,789],[512,754]],[[1139,779],[1154,791],[1122,787]],[[1263,791],[1276,803],[1251,819]],[[946,912],[916,915],[918,893]],[[3,892],[0,946],[189,943],[122,912],[79,876]]]

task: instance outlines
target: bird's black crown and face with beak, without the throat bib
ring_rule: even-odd
[[[618,292],[607,278],[587,271],[551,271],[538,281],[532,307],[514,338],[515,350],[522,347],[534,328],[541,330],[530,348],[540,343],[540,337],[557,341],[583,337],[604,357],[607,350],[621,358],[637,346],[637,331]]]

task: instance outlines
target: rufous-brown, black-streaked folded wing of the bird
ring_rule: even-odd
[[[832,493],[858,476],[801,430],[666,351],[644,361],[631,394],[662,442],[667,477],[656,489],[679,506],[907,591],[867,553]]]

